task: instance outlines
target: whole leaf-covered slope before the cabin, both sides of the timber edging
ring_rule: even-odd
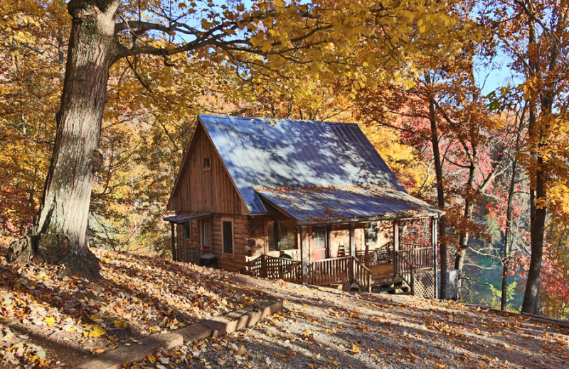
[[[0,253],[4,255],[5,249]],[[262,297],[252,329],[157,350],[132,368],[567,368],[569,331],[452,302],[356,294],[95,249],[104,281],[0,258],[0,363],[73,367]],[[4,361],[1,361],[1,360]]]

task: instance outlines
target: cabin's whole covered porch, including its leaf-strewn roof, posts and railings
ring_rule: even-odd
[[[294,221],[298,258],[250,261],[258,277],[366,292],[405,290],[437,297],[437,219],[442,211],[393,187],[257,189]],[[401,237],[401,223],[430,221],[422,238]],[[283,258],[284,256],[284,258]],[[293,259],[293,260],[291,260]],[[296,259],[296,260],[294,260]]]

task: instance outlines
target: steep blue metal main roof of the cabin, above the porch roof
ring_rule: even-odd
[[[357,124],[211,115],[200,115],[199,119],[251,214],[267,212],[255,189],[390,187],[402,198],[405,195],[409,201],[414,199]],[[259,193],[277,204],[277,198],[268,192]],[[293,193],[301,195],[301,192]],[[306,201],[317,196],[302,194],[306,195],[303,197]],[[346,196],[343,200],[346,207],[353,207],[350,202],[358,200],[355,193],[352,196],[347,191],[336,191],[329,196],[330,201],[336,199],[336,204]],[[375,201],[376,197],[370,195],[368,199]],[[366,208],[367,212],[361,209],[357,214],[372,214],[371,209],[378,206]],[[397,209],[410,210],[403,204]],[[386,214],[378,211],[378,214]],[[299,219],[318,217],[317,213],[310,214]]]

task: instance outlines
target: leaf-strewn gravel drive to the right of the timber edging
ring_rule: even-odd
[[[454,302],[227,275],[285,300],[252,329],[159,349],[133,367],[568,368],[569,331]]]

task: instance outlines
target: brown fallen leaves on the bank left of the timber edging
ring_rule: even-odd
[[[0,367],[77,365],[156,331],[239,309],[259,294],[228,284],[222,270],[92,251],[104,278],[97,282],[59,277],[53,265],[10,265],[0,246]]]

